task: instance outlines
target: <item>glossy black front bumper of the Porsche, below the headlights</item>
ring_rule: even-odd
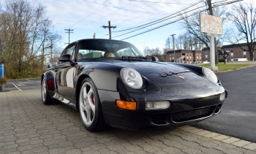
[[[219,95],[216,95],[200,99],[170,101],[168,109],[145,110],[146,99],[138,99],[138,109],[127,110],[116,107],[118,97],[113,93],[116,92],[109,92],[108,97],[99,95],[102,96],[100,99],[105,123],[129,129],[192,124],[219,114],[224,102],[219,101]]]

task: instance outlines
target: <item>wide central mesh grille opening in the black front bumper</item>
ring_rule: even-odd
[[[214,107],[215,109],[215,107]],[[173,122],[181,123],[189,120],[196,120],[200,118],[206,118],[214,112],[213,107],[205,107],[202,109],[193,109],[184,112],[176,112],[172,115]]]

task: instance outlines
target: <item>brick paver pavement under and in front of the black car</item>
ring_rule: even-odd
[[[0,93],[0,153],[256,153],[256,144],[185,126],[86,131],[75,109],[39,90]]]

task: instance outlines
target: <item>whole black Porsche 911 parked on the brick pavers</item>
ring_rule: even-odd
[[[42,74],[42,101],[80,112],[89,131],[188,125],[220,113],[227,91],[210,69],[148,59],[133,45],[82,39]]]

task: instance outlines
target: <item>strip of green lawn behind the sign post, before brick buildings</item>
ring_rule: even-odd
[[[198,64],[198,66],[203,66],[203,67],[209,67],[211,66],[211,63],[206,63],[206,64]],[[225,71],[230,71],[230,70],[236,70],[236,69],[242,69],[246,68],[249,66],[256,66],[255,64],[230,64],[230,63],[218,63],[216,66],[218,66],[219,72],[225,72]]]

